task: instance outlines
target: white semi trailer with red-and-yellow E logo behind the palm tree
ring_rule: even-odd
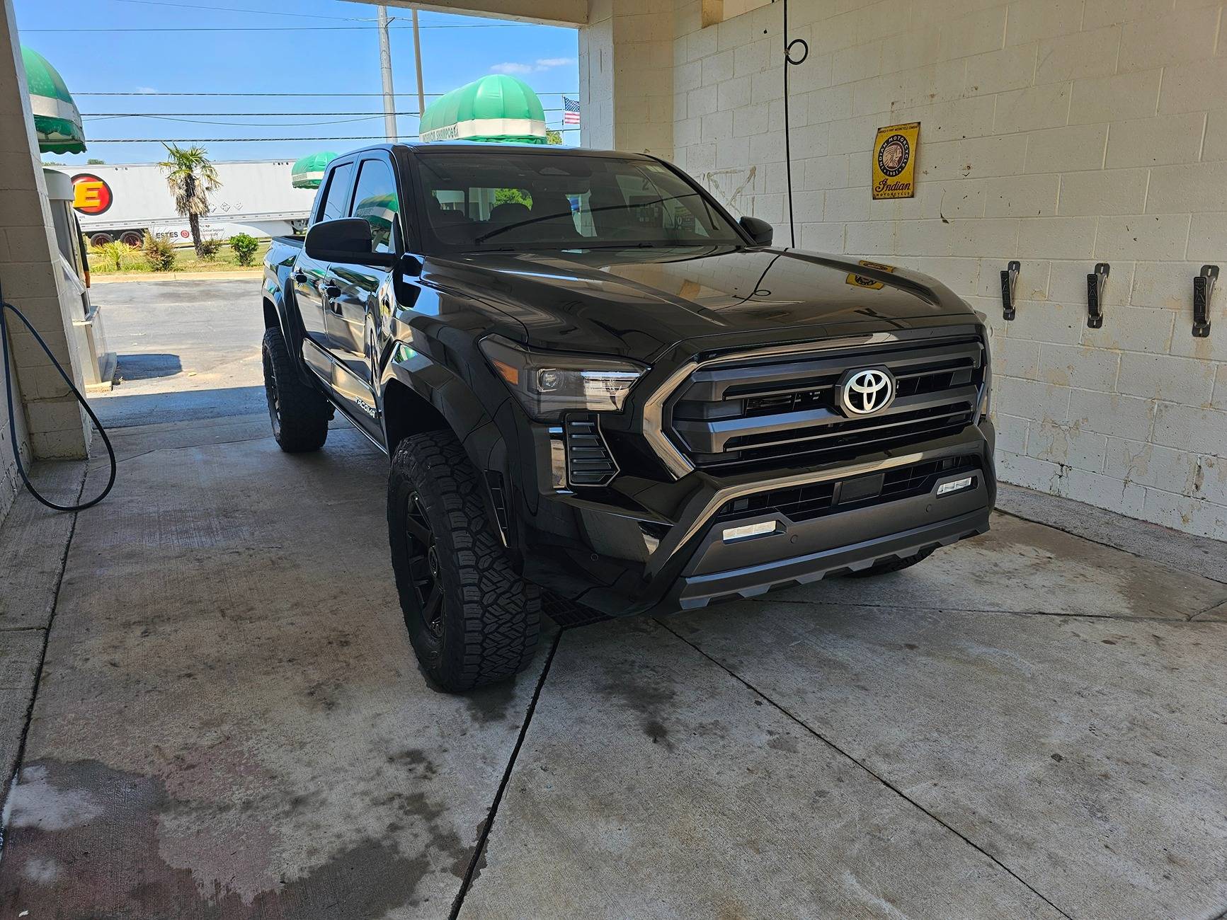
[[[291,159],[213,163],[221,186],[209,195],[210,212],[200,220],[205,239],[236,233],[279,237],[307,223],[313,189],[291,185]],[[166,173],[156,163],[60,167],[74,186],[72,206],[86,239],[97,245],[121,240],[139,245],[145,231],[175,243],[191,242],[188,221],[174,210]]]

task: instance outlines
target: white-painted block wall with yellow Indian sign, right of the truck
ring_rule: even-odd
[[[783,4],[675,7],[675,159],[787,244]],[[710,13],[709,13],[710,15]],[[1196,0],[789,0],[798,244],[940,277],[988,314],[999,472],[1227,539],[1227,16]],[[920,121],[917,196],[875,130]],[[1018,315],[1000,271],[1022,263]],[[1103,329],[1086,275],[1112,265]],[[1193,276],[1225,271],[1209,339]]]

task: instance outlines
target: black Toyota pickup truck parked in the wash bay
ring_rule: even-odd
[[[337,157],[265,265],[285,450],[335,410],[391,459],[405,623],[447,691],[534,654],[542,592],[669,612],[984,532],[983,324],[930,277],[773,248],[649,156]]]

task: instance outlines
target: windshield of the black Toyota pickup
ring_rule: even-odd
[[[444,250],[742,244],[671,169],[567,153],[423,152],[425,236]]]

